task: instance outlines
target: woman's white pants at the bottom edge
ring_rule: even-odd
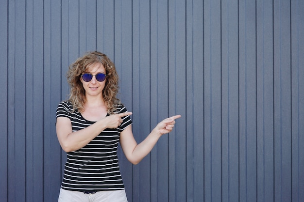
[[[128,200],[124,189],[84,194],[81,191],[60,188],[58,202],[128,202]]]

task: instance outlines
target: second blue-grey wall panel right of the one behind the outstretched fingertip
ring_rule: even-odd
[[[221,200],[220,1],[204,1],[204,200]]]

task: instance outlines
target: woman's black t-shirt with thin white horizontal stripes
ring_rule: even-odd
[[[95,122],[87,121],[78,110],[72,112],[68,101],[59,103],[56,117],[68,117],[73,132]],[[116,113],[126,112],[123,105]],[[109,114],[107,114],[109,116]],[[120,132],[132,124],[130,116],[123,117],[118,128],[107,128],[83,148],[67,153],[67,163],[61,187],[74,191],[102,191],[124,189],[118,165],[117,147]]]

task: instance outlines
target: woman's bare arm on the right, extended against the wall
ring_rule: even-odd
[[[148,155],[157,143],[159,138],[172,131],[175,119],[180,118],[181,115],[169,117],[152,130],[145,140],[137,144],[132,132],[132,125],[129,125],[120,133],[120,145],[123,153],[127,159],[133,163],[138,164],[146,155]]]

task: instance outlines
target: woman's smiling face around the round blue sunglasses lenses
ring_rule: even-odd
[[[99,73],[106,74],[105,68],[101,63],[93,63],[88,66],[88,72],[91,75],[97,75]],[[105,86],[105,81],[98,81],[95,76],[92,77],[92,79],[88,82],[83,80],[83,77],[80,77],[80,81],[83,84],[85,96],[101,96],[102,97],[102,90]]]

